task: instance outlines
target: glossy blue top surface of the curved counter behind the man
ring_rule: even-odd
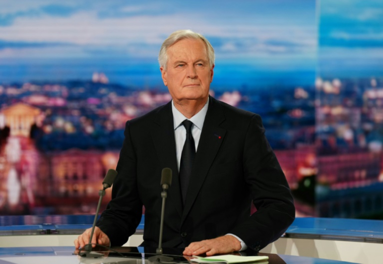
[[[39,234],[81,234],[90,228],[94,216],[0,216],[0,236]],[[143,215],[136,233],[144,230]],[[296,218],[286,237],[383,243],[383,221],[341,218]]]

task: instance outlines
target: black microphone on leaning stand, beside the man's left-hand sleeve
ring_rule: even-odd
[[[95,257],[100,257],[100,256],[104,255],[104,254],[97,253],[97,252],[91,252],[92,251],[92,238],[93,238],[94,228],[96,227],[98,211],[100,210],[100,207],[101,207],[101,200],[102,200],[102,197],[105,195],[105,189],[112,186],[113,181],[116,178],[116,176],[117,176],[117,171],[113,170],[113,169],[109,169],[105,175],[104,180],[102,181],[103,189],[98,191],[98,195],[100,195],[100,199],[98,200],[96,215],[94,216],[94,221],[93,221],[93,225],[92,225],[92,231],[90,233],[89,243],[84,246],[85,251],[79,253],[80,256],[95,258]]]

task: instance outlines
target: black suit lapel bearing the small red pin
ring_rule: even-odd
[[[200,142],[198,143],[192,176],[190,177],[187,189],[181,224],[192,208],[226,134],[226,130],[219,127],[219,124],[225,120],[221,106],[214,98],[210,97],[209,100],[209,108],[206,113]]]

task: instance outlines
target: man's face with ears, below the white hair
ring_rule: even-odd
[[[167,69],[160,70],[173,100],[207,100],[214,65],[210,69],[205,43],[182,39],[167,49],[167,55]]]

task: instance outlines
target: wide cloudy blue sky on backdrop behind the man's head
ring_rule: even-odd
[[[315,5],[314,0],[3,0],[0,82],[89,79],[97,71],[124,85],[161,85],[162,41],[174,30],[192,29],[216,50],[217,86],[308,84],[316,65]]]

